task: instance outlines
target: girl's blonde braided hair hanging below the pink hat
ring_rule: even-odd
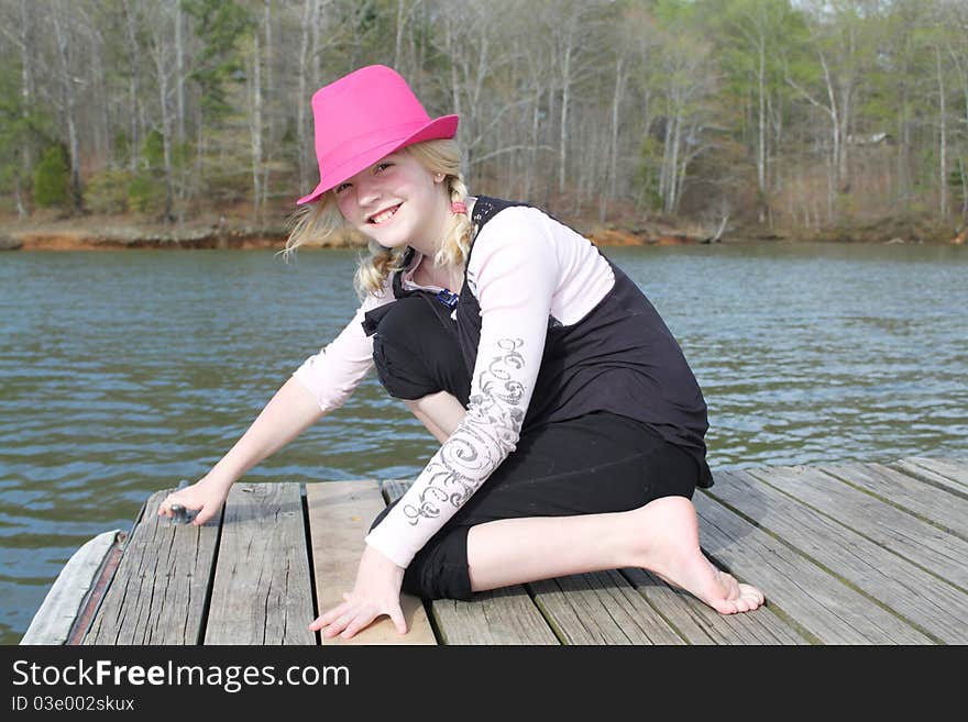
[[[415,143],[403,148],[431,174],[442,173],[450,202],[464,202],[468,187],[461,174],[461,148],[457,141],[436,140]],[[322,241],[343,227],[345,221],[336,202],[332,190],[319,200],[300,208],[292,220],[292,231],[283,251],[288,258],[307,241]],[[433,256],[436,266],[455,268],[462,266],[471,246],[473,226],[464,213],[452,213],[447,222],[440,248]],[[353,287],[361,299],[378,291],[391,274],[403,268],[407,248],[385,248],[375,241],[369,244],[370,255],[360,259],[353,277]]]

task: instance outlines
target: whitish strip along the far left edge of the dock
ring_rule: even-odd
[[[118,545],[119,535],[123,535],[119,529],[98,534],[70,556],[44,597],[20,644],[68,642],[85,599],[95,587],[105,558]]]

